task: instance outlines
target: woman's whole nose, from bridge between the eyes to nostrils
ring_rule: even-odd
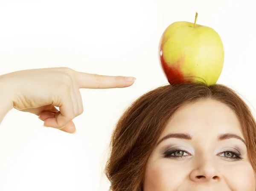
[[[202,152],[194,159],[194,165],[190,178],[193,181],[218,180],[220,174],[215,157],[210,152]]]

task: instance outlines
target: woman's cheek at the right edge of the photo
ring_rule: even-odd
[[[234,190],[256,190],[255,172],[249,162],[231,166],[226,165],[222,168],[221,174]]]

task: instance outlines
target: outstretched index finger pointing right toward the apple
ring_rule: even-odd
[[[90,89],[125,88],[131,86],[136,80],[135,77],[106,76],[79,71],[76,71],[75,75],[79,88]]]

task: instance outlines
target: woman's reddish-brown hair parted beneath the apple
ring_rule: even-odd
[[[122,114],[111,138],[105,174],[111,191],[143,191],[145,166],[169,118],[177,108],[211,98],[235,111],[244,135],[250,162],[256,171],[256,123],[248,105],[227,86],[202,83],[167,85],[138,98]]]

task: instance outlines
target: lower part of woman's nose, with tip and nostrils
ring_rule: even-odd
[[[198,160],[189,175],[193,182],[218,182],[221,175],[211,160]]]

